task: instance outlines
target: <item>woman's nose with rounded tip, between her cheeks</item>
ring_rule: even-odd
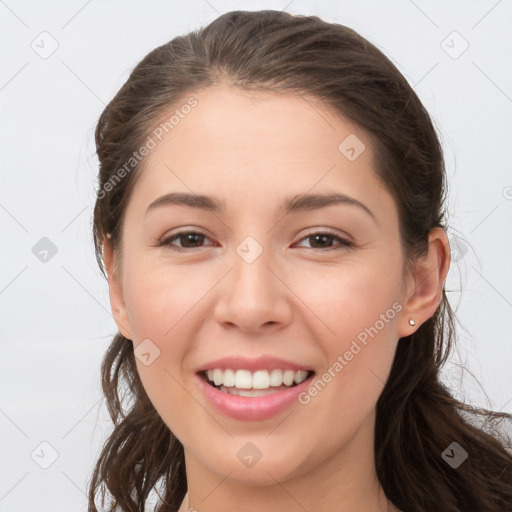
[[[231,271],[219,283],[216,321],[254,334],[284,328],[292,319],[292,294],[283,281],[266,251],[251,263],[235,254]]]

